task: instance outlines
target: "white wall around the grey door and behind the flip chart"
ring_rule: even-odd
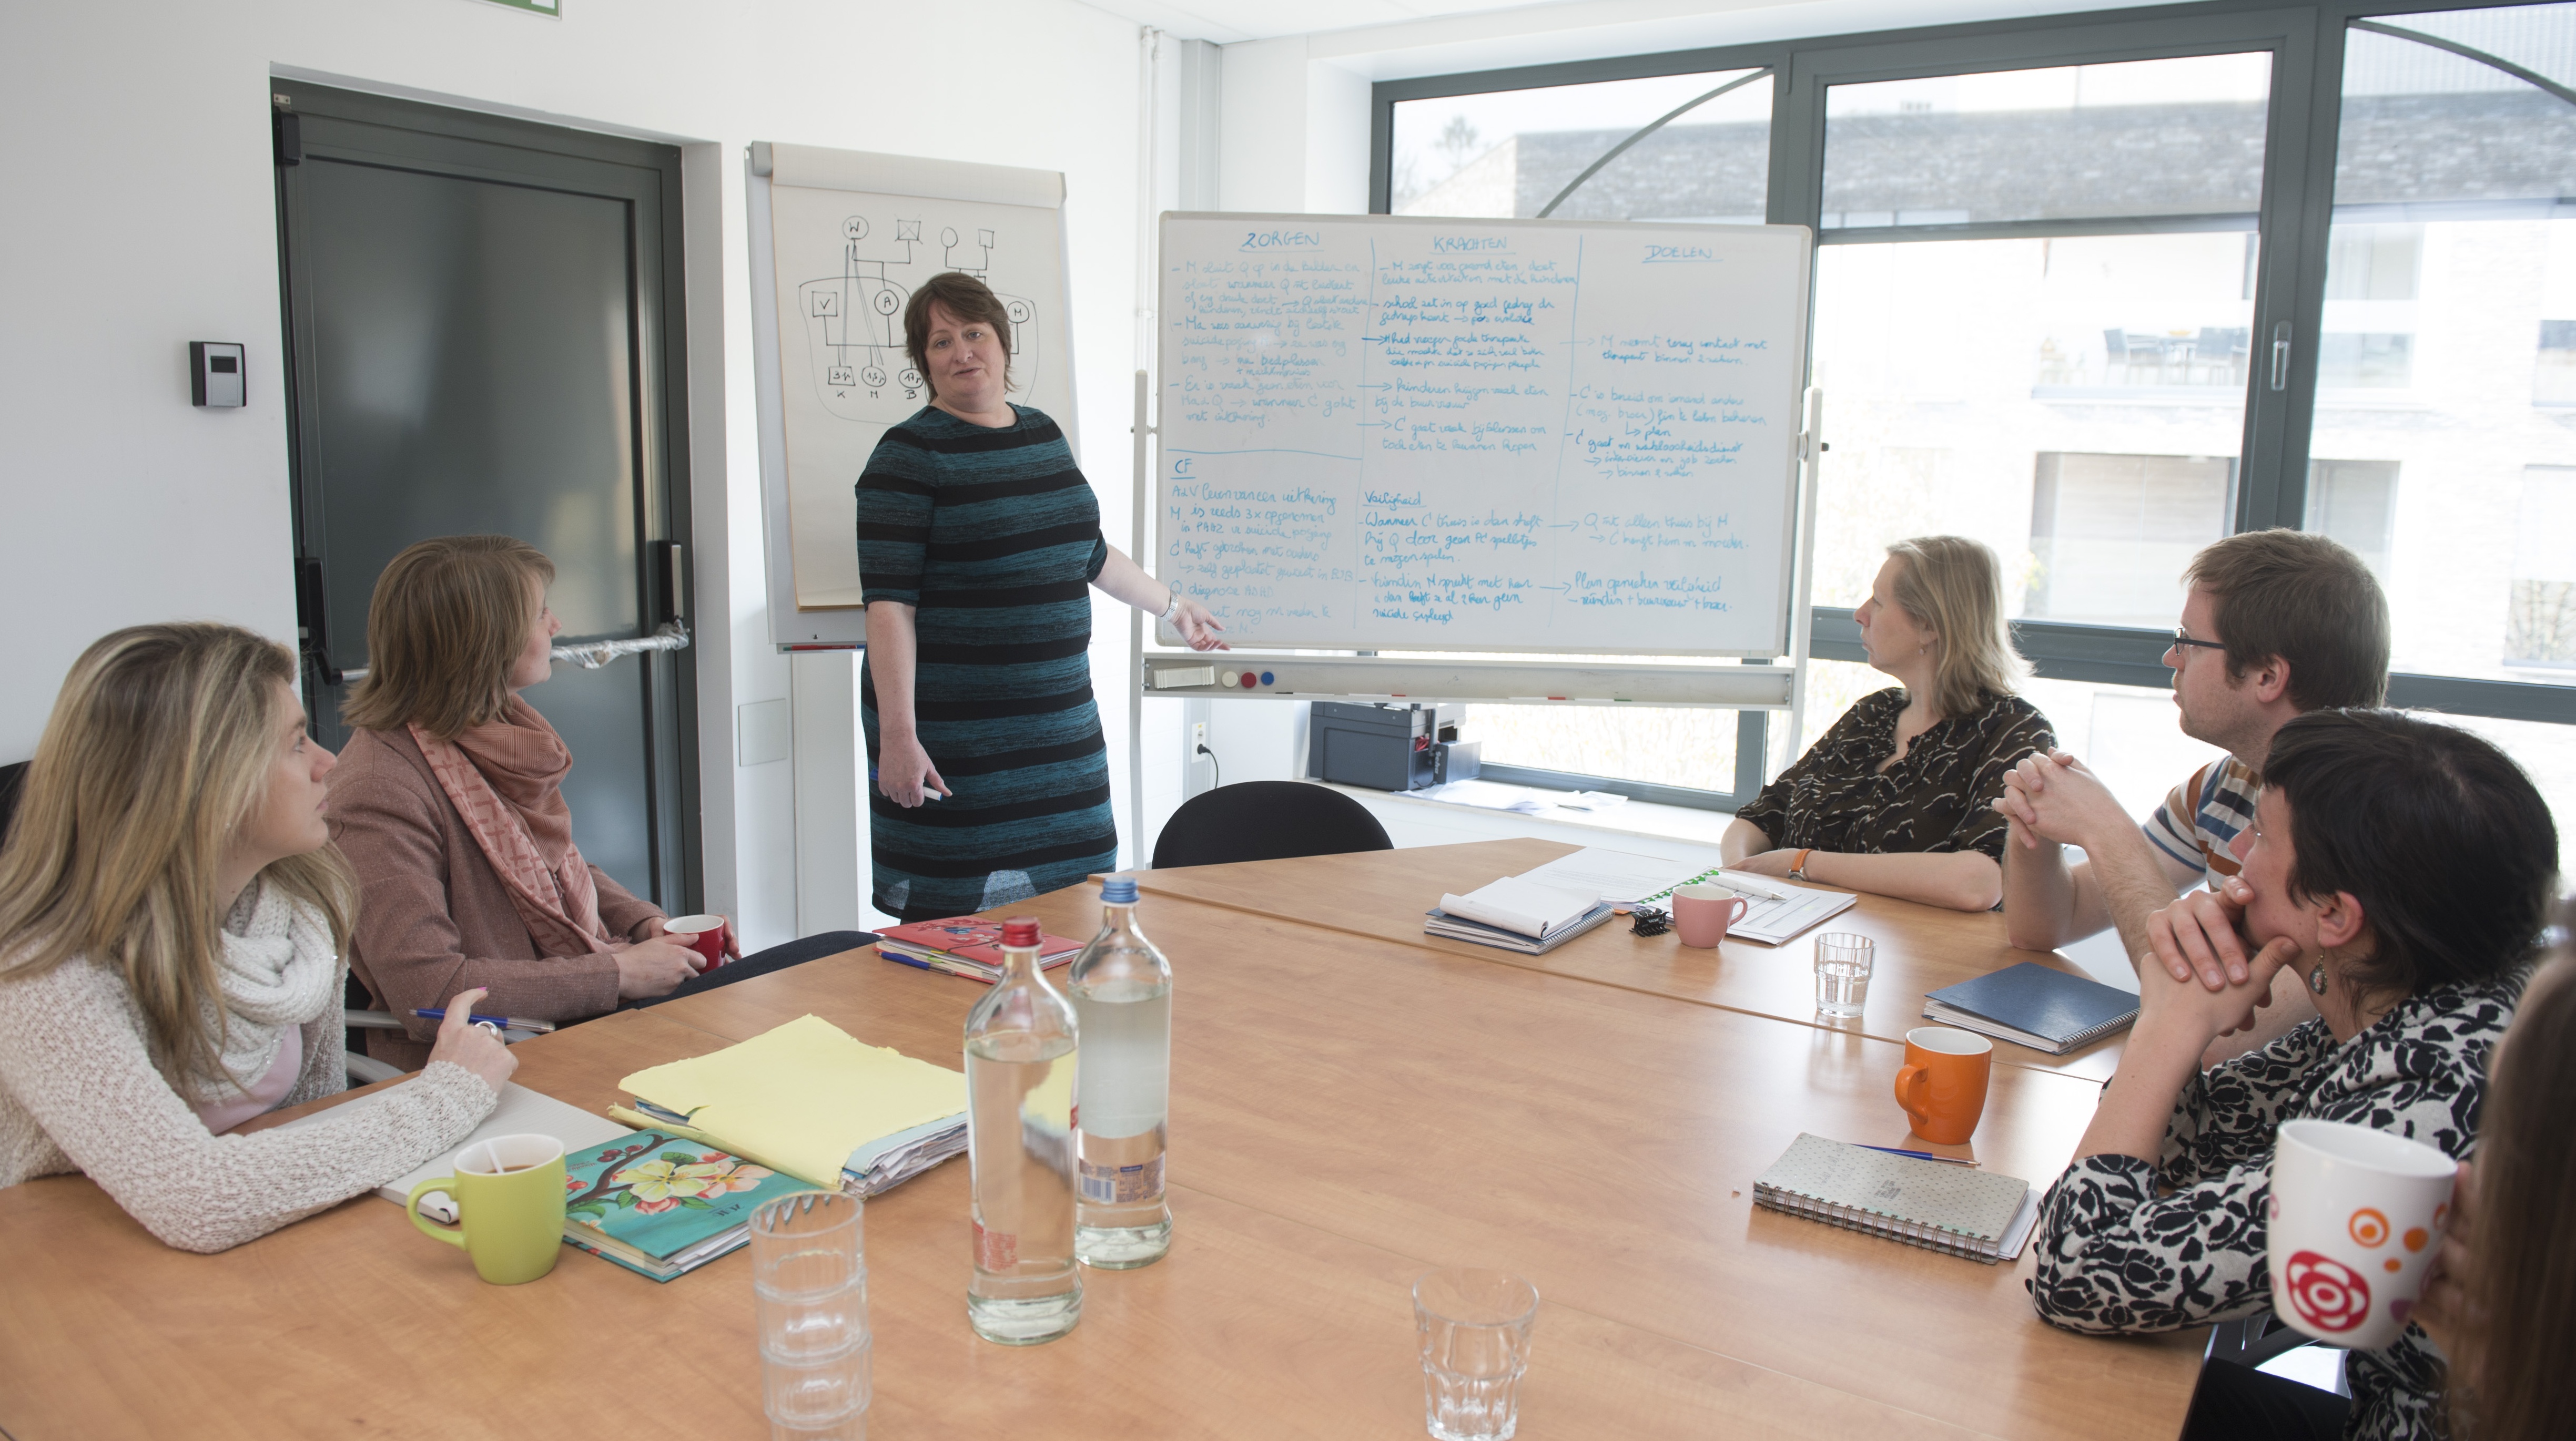
[[[685,185],[708,901],[747,939],[783,939],[788,767],[734,769],[734,708],[788,692],[760,610],[742,147],[1066,175],[1082,435],[1115,533],[1136,28],[1072,0],[992,0],[969,64],[951,13],[881,0],[567,0],[562,21],[482,0],[10,5],[0,656],[15,684],[0,692],[0,759],[33,751],[72,656],[116,625],[216,618],[294,638],[270,75],[698,142]],[[250,407],[188,404],[188,340],[247,342]],[[1123,708],[1103,718],[1123,793]]]

